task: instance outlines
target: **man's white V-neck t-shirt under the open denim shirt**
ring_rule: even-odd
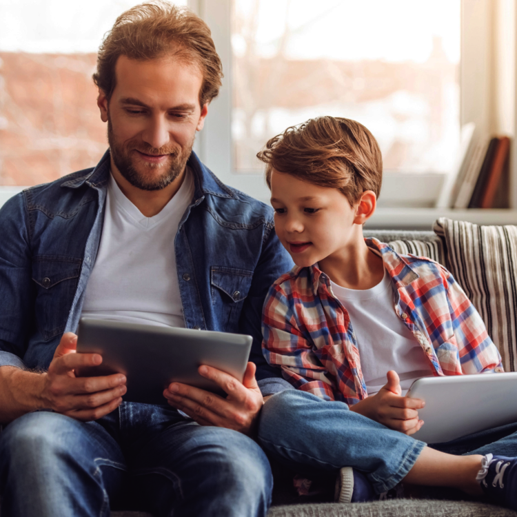
[[[187,169],[159,214],[145,217],[110,174],[101,243],[81,316],[184,327],[174,239],[194,196]]]

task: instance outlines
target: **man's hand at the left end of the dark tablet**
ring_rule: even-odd
[[[41,407],[77,420],[97,420],[119,407],[126,392],[125,376],[76,377],[74,369],[102,363],[99,354],[77,354],[76,349],[77,336],[64,334],[48,372],[42,375]]]

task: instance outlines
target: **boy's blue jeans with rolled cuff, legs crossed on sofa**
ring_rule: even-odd
[[[516,432],[517,425],[511,424],[432,447],[449,454],[517,456]],[[345,403],[296,389],[277,393],[265,403],[259,443],[298,472],[354,467],[366,474],[378,494],[405,478],[426,445],[349,411]]]

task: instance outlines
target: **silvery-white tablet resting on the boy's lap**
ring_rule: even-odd
[[[425,401],[418,410],[424,425],[412,436],[426,443],[517,422],[517,372],[423,377],[406,396]]]

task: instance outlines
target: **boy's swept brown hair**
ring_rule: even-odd
[[[365,190],[378,197],[383,158],[378,143],[364,125],[341,117],[320,116],[287,128],[270,139],[257,158],[266,164],[271,188],[272,170],[337,188],[354,205]]]

